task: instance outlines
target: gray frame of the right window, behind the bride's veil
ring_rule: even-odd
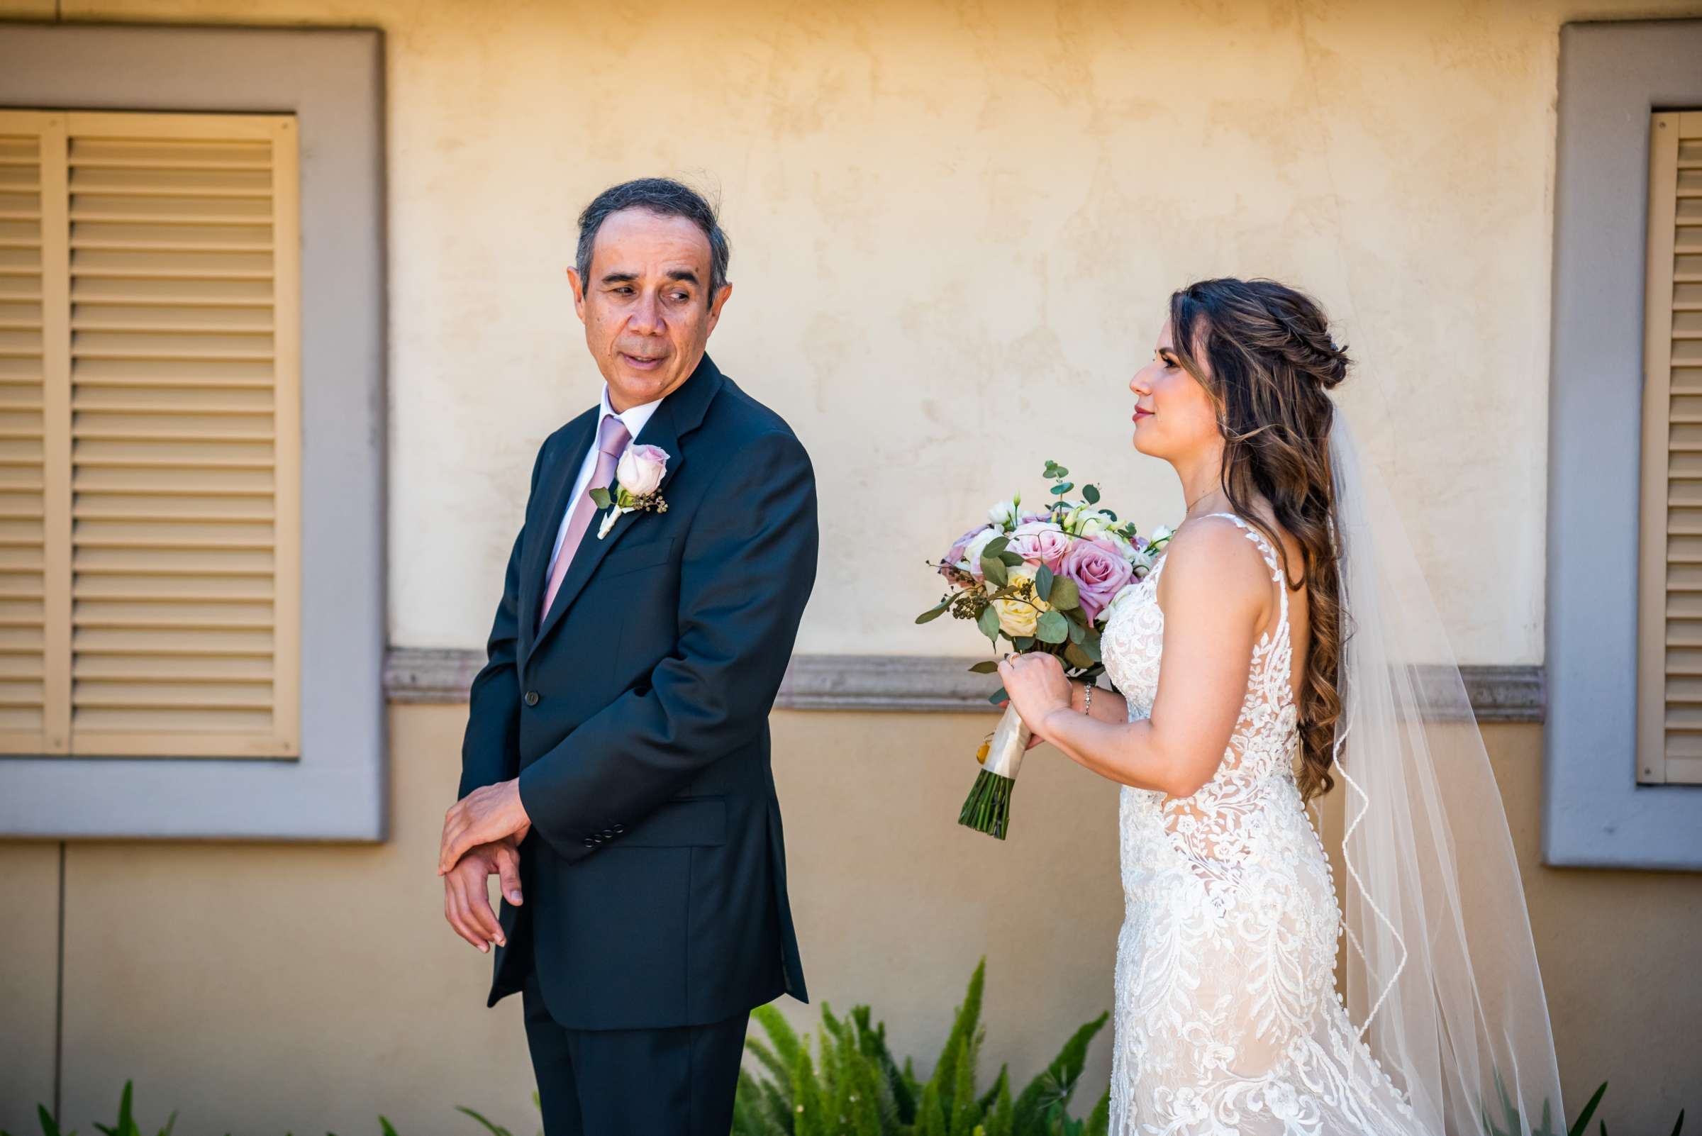
[[[1561,29],[1542,859],[1702,869],[1702,786],[1639,786],[1649,116],[1702,107],[1702,20]]]

